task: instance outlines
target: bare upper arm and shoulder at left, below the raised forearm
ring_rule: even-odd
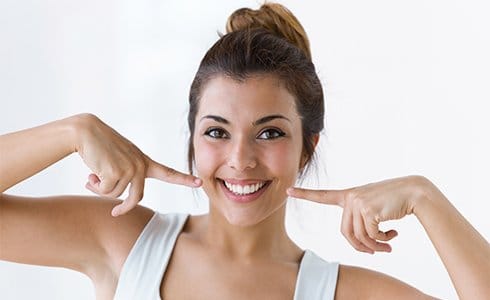
[[[119,275],[154,212],[138,205],[125,215],[121,200],[89,196],[20,197],[0,194],[0,260]],[[36,249],[36,251],[32,251]]]

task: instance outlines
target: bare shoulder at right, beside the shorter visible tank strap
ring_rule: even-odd
[[[335,299],[436,298],[386,274],[355,266],[340,265]]]

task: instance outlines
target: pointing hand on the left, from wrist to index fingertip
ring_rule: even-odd
[[[128,197],[112,210],[113,216],[127,213],[143,198],[145,178],[199,187],[199,178],[159,164],[114,129],[92,114],[79,119],[76,151],[93,172],[85,185],[106,197],[119,197],[129,187]]]

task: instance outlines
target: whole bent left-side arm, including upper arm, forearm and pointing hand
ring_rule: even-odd
[[[16,197],[3,194],[16,183],[78,152],[97,181],[87,184],[107,197]],[[0,259],[60,266],[86,274],[107,267],[115,272],[153,214],[136,206],[146,177],[196,186],[194,178],[172,171],[144,155],[97,117],[77,115],[0,136]],[[189,184],[191,182],[192,184]],[[130,213],[110,216],[124,201]],[[124,204],[122,204],[124,205]],[[119,204],[121,206],[121,204]]]

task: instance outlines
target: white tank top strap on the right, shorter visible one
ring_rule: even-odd
[[[294,300],[330,300],[335,298],[339,264],[330,263],[305,250],[301,259]]]

